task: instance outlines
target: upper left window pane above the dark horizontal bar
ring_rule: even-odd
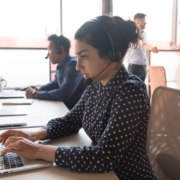
[[[60,32],[59,0],[1,0],[0,47],[46,47]]]

